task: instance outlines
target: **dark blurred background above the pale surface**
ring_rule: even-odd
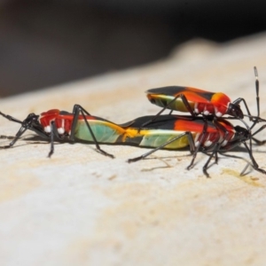
[[[265,0],[0,0],[0,97],[265,30]],[[265,43],[266,49],[266,43]]]

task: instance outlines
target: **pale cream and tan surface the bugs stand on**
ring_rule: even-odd
[[[149,66],[2,99],[0,110],[23,120],[80,104],[125,122],[159,111],[145,90],[175,84],[246,98],[255,113],[257,66],[266,117],[265,44],[266,35],[224,45],[195,40]],[[3,117],[0,125],[0,135],[19,128]],[[102,145],[112,160],[94,145],[55,145],[51,159],[49,148],[22,139],[0,151],[1,265],[265,265],[266,176],[252,170],[240,177],[244,160],[221,156],[206,178],[201,153],[188,171],[188,151],[128,164],[147,149]],[[265,152],[254,146],[264,169]]]

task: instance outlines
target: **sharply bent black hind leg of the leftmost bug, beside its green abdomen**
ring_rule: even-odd
[[[79,119],[79,115],[81,114],[82,115],[82,118],[83,120],[85,121],[86,123],[86,126],[90,132],[90,135],[91,137],[93,138],[93,141],[96,145],[96,150],[98,151],[98,153],[101,153],[103,155],[106,155],[108,157],[111,157],[111,158],[114,158],[113,154],[110,154],[110,153],[106,153],[104,150],[102,150],[98,144],[98,141],[90,127],[90,123],[87,121],[86,119],[86,115],[90,115],[90,113],[88,113],[82,106],[79,106],[79,105],[74,105],[74,108],[73,108],[73,114],[74,114],[74,119],[73,119],[73,123],[72,123],[72,127],[71,127],[71,134],[70,134],[70,140],[74,141],[74,129],[76,127],[76,124],[77,124],[77,121]]]

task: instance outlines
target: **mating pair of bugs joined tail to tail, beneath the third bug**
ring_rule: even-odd
[[[145,153],[135,159],[130,159],[129,162],[144,159],[161,148],[176,150],[189,146],[192,153],[192,162],[188,168],[192,168],[199,151],[211,153],[203,168],[204,174],[208,176],[207,167],[213,156],[215,156],[217,161],[217,153],[225,153],[243,143],[254,169],[263,174],[265,173],[254,160],[251,144],[250,148],[246,145],[246,141],[253,138],[250,131],[239,126],[233,127],[229,121],[224,119],[213,122],[207,121],[202,117],[192,120],[190,116],[161,115],[156,121],[139,130],[144,121],[153,119],[153,116],[140,117],[118,125],[90,115],[79,105],[74,106],[73,113],[53,109],[40,115],[30,113],[24,121],[1,112],[0,114],[6,119],[21,125],[20,130],[10,145],[6,145],[3,148],[12,147],[27,129],[34,131],[44,139],[50,140],[51,149],[48,154],[49,157],[54,153],[54,137],[58,140],[69,139],[74,141],[78,139],[93,142],[99,153],[111,158],[114,157],[113,154],[102,150],[99,143],[133,144],[155,148],[149,153]],[[262,129],[264,129],[263,126],[254,135]]]

